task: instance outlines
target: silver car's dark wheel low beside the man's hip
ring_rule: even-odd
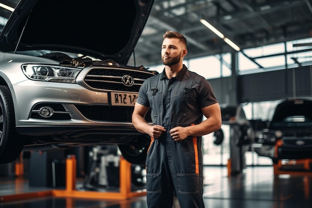
[[[145,165],[151,138],[148,135],[139,136],[136,142],[121,144],[118,148],[122,156],[132,164]]]

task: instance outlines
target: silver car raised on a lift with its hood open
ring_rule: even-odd
[[[23,148],[93,144],[118,144],[144,163],[150,139],[131,115],[156,72],[127,63],[153,1],[18,3],[0,34],[0,163]]]

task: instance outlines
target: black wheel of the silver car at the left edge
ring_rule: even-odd
[[[0,86],[0,164],[18,158],[23,143],[15,130],[13,101],[8,89]]]

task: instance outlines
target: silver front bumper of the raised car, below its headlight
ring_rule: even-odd
[[[112,105],[111,92],[116,91],[89,87],[87,72],[79,74],[77,84],[26,79],[9,85],[17,133],[38,143],[125,144],[141,135],[132,124],[134,103]],[[43,107],[53,109],[53,116],[39,115]]]

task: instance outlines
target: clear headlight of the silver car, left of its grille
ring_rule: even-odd
[[[36,64],[23,64],[21,67],[29,79],[46,82],[76,83],[81,71],[79,68]]]

